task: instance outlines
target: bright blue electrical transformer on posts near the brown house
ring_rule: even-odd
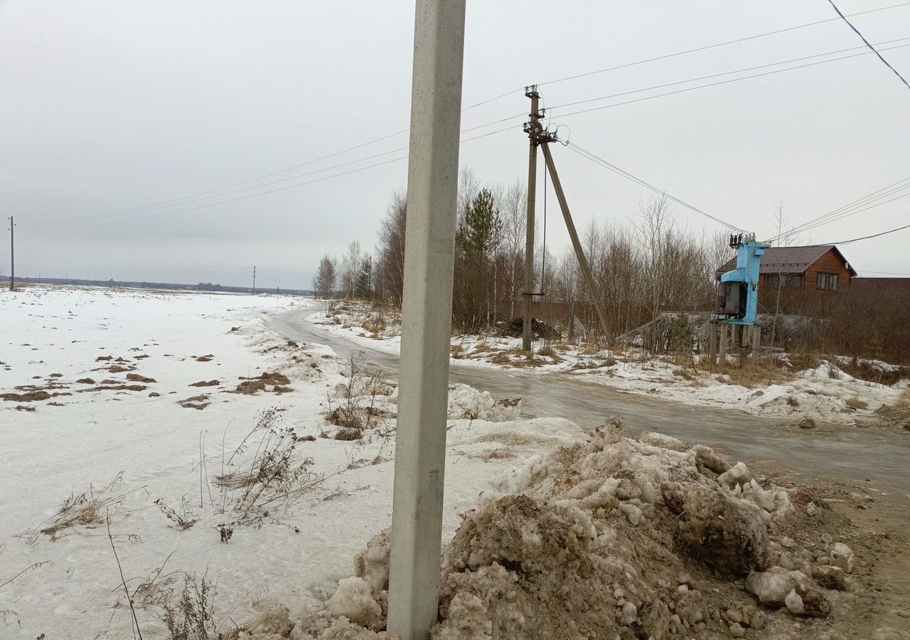
[[[737,250],[736,269],[721,276],[716,317],[727,324],[751,326],[758,314],[758,277],[768,245],[756,242],[754,235],[738,234],[730,237],[730,246]]]

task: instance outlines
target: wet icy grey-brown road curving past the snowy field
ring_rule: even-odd
[[[312,309],[291,310],[272,316],[268,323],[288,339],[327,344],[342,355],[363,351],[389,377],[398,376],[398,354],[365,348],[323,330],[307,320],[312,314]],[[835,426],[806,431],[798,429],[792,419],[688,406],[656,394],[632,395],[568,374],[495,370],[453,361],[450,380],[490,391],[498,398],[522,398],[527,417],[560,416],[592,429],[617,414],[634,433],[659,431],[701,442],[743,460],[756,471],[789,469],[804,480],[843,483],[848,490],[874,487],[883,503],[904,511],[910,506],[910,436]]]

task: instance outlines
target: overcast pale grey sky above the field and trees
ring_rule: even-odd
[[[845,14],[896,4],[839,2]],[[413,13],[413,2],[390,0],[0,2],[0,208],[18,225],[17,273],[248,285],[256,264],[261,286],[308,288],[323,253],[339,255],[352,239],[372,248],[389,195],[407,176],[406,161],[395,159],[404,154],[386,152],[407,147],[407,135],[247,180],[408,127]],[[832,17],[826,0],[469,0],[463,105],[515,90],[466,111],[462,129],[514,117],[466,133],[499,131],[465,142],[461,163],[489,182],[526,173],[524,85]],[[910,4],[851,20],[876,44],[906,38],[882,49],[910,45]],[[834,20],[541,92],[555,107],[551,123],[571,127],[573,142],[767,237],[778,202],[796,225],[910,177],[910,90],[874,55],[570,114],[864,53],[853,48],[862,45]],[[910,78],[910,46],[883,55]],[[554,153],[579,228],[632,219],[648,196],[570,149]],[[317,178],[327,179],[300,185]],[[214,194],[232,193],[201,199],[227,185],[235,186]],[[676,210],[695,233],[721,229]],[[558,222],[551,218],[551,249],[568,242]],[[903,198],[803,239],[908,222]],[[843,249],[861,272],[910,273],[908,241],[910,230]],[[4,240],[7,274],[8,259]]]

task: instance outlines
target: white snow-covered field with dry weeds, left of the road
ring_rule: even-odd
[[[162,576],[207,575],[217,583],[221,628],[271,599],[303,605],[311,585],[319,590],[350,573],[353,555],[390,522],[396,391],[383,385],[363,400],[375,403],[378,417],[361,439],[319,437],[338,429],[326,413],[329,402],[345,406],[349,363],[320,345],[288,344],[264,327],[269,313],[310,304],[137,290],[0,293],[0,394],[15,394],[0,401],[0,637],[131,636],[128,611],[116,606],[124,598],[107,515],[132,588],[166,561]],[[270,371],[287,382],[240,380]],[[231,392],[238,384],[259,391]],[[451,392],[450,415],[504,420],[520,411],[492,402],[462,385]],[[279,411],[268,442],[292,428],[293,437],[281,442],[293,442],[294,461],[312,460],[292,499],[268,504],[268,516],[241,513],[243,490],[222,493],[216,476],[245,469],[265,448],[265,432],[255,432],[226,464],[270,408]],[[520,444],[515,432],[526,434]],[[580,439],[566,421],[511,422],[510,432],[499,422],[452,421],[446,536],[517,456]],[[40,533],[89,485],[89,497],[110,501],[85,522]],[[159,499],[197,523],[180,529]],[[250,513],[251,522],[239,523]],[[221,543],[225,527],[232,534]],[[137,613],[144,630],[163,632],[154,612]]]

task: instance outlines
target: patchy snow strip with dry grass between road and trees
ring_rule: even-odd
[[[317,312],[314,321],[370,348],[400,350],[400,319],[394,311],[344,302],[332,313]],[[892,386],[858,380],[842,371],[834,359],[809,370],[791,369],[773,381],[756,374],[740,383],[734,377],[737,372],[733,371],[732,358],[729,372],[712,372],[697,362],[693,368],[670,359],[646,358],[632,351],[596,350],[585,345],[546,344],[538,340],[533,350],[534,355],[529,358],[521,354],[521,339],[494,335],[455,335],[451,340],[452,361],[460,364],[578,375],[586,381],[639,395],[796,420],[808,416],[822,422],[863,425],[873,419],[876,409],[894,405],[902,396],[906,398],[905,390],[910,386],[910,380],[897,381]],[[893,368],[885,362],[877,364],[883,370]]]

